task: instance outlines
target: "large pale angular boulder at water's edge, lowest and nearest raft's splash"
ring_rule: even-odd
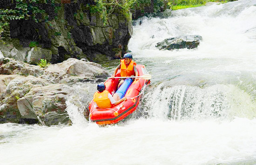
[[[37,86],[18,99],[17,105],[22,118],[39,119],[43,125],[67,124],[66,98],[71,92],[64,84]]]

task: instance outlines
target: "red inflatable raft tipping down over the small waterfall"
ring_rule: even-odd
[[[139,76],[147,75],[148,72],[145,69],[144,65],[136,65]],[[115,77],[120,76],[120,70],[116,73]],[[107,79],[105,81],[106,90],[114,94],[117,90],[117,85],[119,83],[118,78]],[[89,118],[96,122],[98,125],[105,124],[115,124],[118,123],[121,119],[126,118],[129,114],[134,112],[139,104],[141,98],[141,92],[143,86],[146,86],[150,83],[149,79],[139,78],[134,80],[131,86],[128,88],[124,97],[127,98],[126,101],[121,102],[116,106],[111,108],[99,109],[94,106],[94,101],[92,100],[89,105]]]

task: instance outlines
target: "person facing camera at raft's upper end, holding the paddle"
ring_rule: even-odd
[[[120,64],[116,66],[114,74],[111,76],[112,79],[115,78],[115,74],[117,73],[118,69],[121,69],[121,77],[131,77],[131,76],[138,76],[139,73],[136,69],[136,63],[132,60],[133,56],[131,53],[125,53],[123,55],[123,59],[120,60]],[[138,79],[138,78],[135,78]],[[119,79],[119,84],[117,88],[119,88],[125,79]]]

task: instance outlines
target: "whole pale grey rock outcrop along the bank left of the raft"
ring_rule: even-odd
[[[79,59],[40,68],[0,59],[0,123],[67,124],[66,99],[76,82],[104,81],[101,65]]]

